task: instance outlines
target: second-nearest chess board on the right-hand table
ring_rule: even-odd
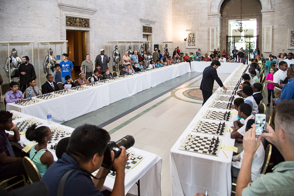
[[[207,121],[198,121],[192,131],[198,133],[224,136],[227,125],[223,123],[212,123]]]

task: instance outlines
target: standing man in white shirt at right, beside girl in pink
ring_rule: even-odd
[[[274,85],[274,98],[281,98],[281,92],[284,84],[281,84],[281,81],[283,81],[287,77],[287,69],[288,64],[286,61],[281,61],[279,63],[279,70],[273,74],[273,85]]]

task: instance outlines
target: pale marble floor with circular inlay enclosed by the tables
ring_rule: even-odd
[[[219,76],[224,81],[228,75]],[[170,149],[202,106],[201,79],[202,73],[187,73],[63,124],[97,124],[113,141],[132,135],[134,147],[163,159],[161,191],[162,196],[170,196]]]

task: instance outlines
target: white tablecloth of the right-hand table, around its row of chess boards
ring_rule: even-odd
[[[234,64],[236,65],[236,64]],[[234,73],[238,74],[245,69],[244,65],[239,65],[233,73],[224,81],[227,83]],[[219,72],[219,70],[218,70]],[[241,76],[240,73],[239,76]],[[226,86],[226,85],[225,85]],[[179,139],[171,148],[170,164],[171,164],[171,181],[172,181],[172,196],[192,196],[196,193],[205,193],[208,191],[210,196],[230,196],[231,195],[231,161],[233,151],[222,150],[218,156],[206,155],[196,152],[189,152],[180,150],[179,147],[184,138],[189,134],[196,134],[199,136],[213,137],[215,135],[196,133],[194,129],[196,123],[201,119],[208,122],[219,123],[220,121],[202,119],[206,110],[211,109],[215,111],[226,111],[224,109],[217,109],[209,107],[213,99],[220,93],[221,87],[206,101],[201,107],[195,118],[188,125]],[[237,112],[237,111],[236,111]],[[237,120],[237,115],[233,114],[227,124],[227,128],[233,125]],[[225,130],[226,131],[226,130]],[[226,132],[225,136],[219,136],[223,145],[234,146],[235,140],[230,138],[230,133]]]

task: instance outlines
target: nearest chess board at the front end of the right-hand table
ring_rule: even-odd
[[[181,143],[180,150],[197,152],[207,155],[219,156],[221,149],[221,139],[219,137],[211,138],[198,135],[187,135]]]

